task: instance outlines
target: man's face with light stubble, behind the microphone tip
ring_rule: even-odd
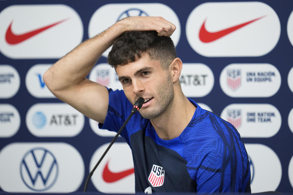
[[[145,99],[139,109],[143,118],[156,118],[172,104],[174,89],[170,72],[163,70],[160,61],[150,59],[148,54],[143,53],[135,62],[118,65],[116,72],[124,93],[132,104],[139,97]]]

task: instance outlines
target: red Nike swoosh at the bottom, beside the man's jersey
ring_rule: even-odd
[[[134,168],[130,168],[128,170],[117,172],[117,173],[111,172],[108,168],[108,164],[109,164],[109,161],[107,162],[107,164],[103,170],[103,179],[107,183],[116,182],[116,181],[134,173]]]

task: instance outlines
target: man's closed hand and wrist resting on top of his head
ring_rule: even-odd
[[[163,17],[152,16],[134,16],[127,17],[119,20],[116,24],[122,24],[125,27],[125,31],[140,30],[149,31],[155,30],[158,36],[170,37],[174,30],[175,25],[164,19]]]

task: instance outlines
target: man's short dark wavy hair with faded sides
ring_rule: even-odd
[[[127,31],[114,41],[108,63],[116,67],[135,62],[143,52],[147,52],[150,59],[159,60],[163,69],[168,69],[177,57],[170,37],[158,36],[156,31]]]

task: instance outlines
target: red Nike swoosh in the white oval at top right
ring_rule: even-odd
[[[201,25],[201,30],[199,31],[199,39],[204,42],[204,43],[210,43],[212,41],[215,41],[221,37],[224,37],[226,36],[227,34],[230,34],[232,33],[233,31],[237,30],[237,29],[240,29],[252,22],[255,22],[256,20],[259,20],[261,18],[263,18],[265,16],[262,16],[262,17],[259,17],[259,18],[256,18],[256,19],[253,19],[251,21],[248,21],[248,22],[245,22],[245,23],[242,23],[242,24],[239,24],[239,25],[236,25],[236,26],[233,26],[233,27],[230,27],[230,28],[226,28],[224,30],[220,30],[220,31],[217,31],[217,32],[208,32],[206,29],[205,29],[205,21],[206,19],[204,20],[204,23]]]

